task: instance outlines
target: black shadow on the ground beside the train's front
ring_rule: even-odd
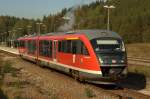
[[[143,74],[138,73],[129,73],[128,77],[122,80],[120,83],[112,84],[112,85],[97,85],[106,90],[115,90],[115,89],[133,89],[133,90],[141,90],[146,87],[146,77]]]

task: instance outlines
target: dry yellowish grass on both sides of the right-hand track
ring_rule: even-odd
[[[132,57],[150,58],[150,43],[127,44],[127,54]],[[150,77],[150,67],[130,65],[129,72],[141,73]]]

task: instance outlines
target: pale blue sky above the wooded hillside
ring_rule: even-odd
[[[0,15],[42,18],[63,8],[87,4],[96,0],[0,0]]]

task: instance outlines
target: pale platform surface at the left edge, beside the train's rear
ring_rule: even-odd
[[[12,54],[19,55],[19,52],[18,52],[17,48],[10,48],[10,47],[0,45],[0,50],[6,51],[6,52],[9,52],[9,53],[12,53]]]

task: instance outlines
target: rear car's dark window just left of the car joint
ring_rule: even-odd
[[[30,40],[28,41],[28,53],[29,54],[35,54],[36,51],[36,41],[35,40]]]

